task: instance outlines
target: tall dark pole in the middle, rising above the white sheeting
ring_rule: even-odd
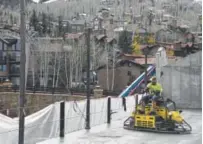
[[[90,33],[91,29],[86,29],[86,46],[87,46],[87,105],[86,105],[86,126],[90,129]]]

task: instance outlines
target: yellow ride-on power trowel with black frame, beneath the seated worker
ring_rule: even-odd
[[[172,100],[161,97],[156,102],[155,114],[150,113],[151,102],[145,105],[144,113],[140,112],[142,105],[138,103],[138,95],[135,102],[135,111],[125,120],[124,129],[176,134],[192,131],[192,127],[181,116],[182,111],[176,110],[176,104]]]

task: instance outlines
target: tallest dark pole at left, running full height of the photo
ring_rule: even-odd
[[[18,144],[24,144],[24,102],[25,102],[25,0],[20,0],[20,41],[21,41],[21,55],[20,55],[20,96],[19,96],[19,138]]]

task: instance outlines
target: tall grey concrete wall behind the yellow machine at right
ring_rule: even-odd
[[[191,54],[175,64],[161,67],[164,96],[179,108],[202,108],[202,55]]]

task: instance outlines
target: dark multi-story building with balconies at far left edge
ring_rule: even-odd
[[[0,37],[0,82],[20,84],[20,39]]]

